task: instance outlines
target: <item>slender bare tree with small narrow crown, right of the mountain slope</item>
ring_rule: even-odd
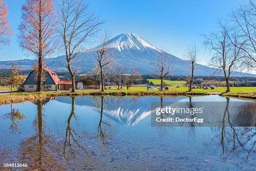
[[[192,91],[192,83],[194,79],[194,64],[197,61],[198,54],[199,54],[199,50],[195,43],[190,44],[186,50],[186,53],[184,54],[185,60],[191,63],[191,76],[188,77],[189,92]]]

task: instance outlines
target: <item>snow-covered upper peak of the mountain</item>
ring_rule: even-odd
[[[116,48],[118,51],[137,49],[140,51],[154,49],[161,52],[159,48],[156,48],[152,44],[145,41],[143,38],[139,37],[135,33],[125,33],[112,38],[108,41],[108,46],[111,48]]]

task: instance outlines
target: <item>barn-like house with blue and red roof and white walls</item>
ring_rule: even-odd
[[[44,69],[45,81],[42,85],[43,91],[57,91],[57,90],[69,90],[72,88],[71,81],[60,81],[57,74],[50,69]],[[28,74],[26,81],[24,82],[24,90],[26,92],[36,91],[36,80],[34,71]]]

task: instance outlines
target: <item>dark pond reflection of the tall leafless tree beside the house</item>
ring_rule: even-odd
[[[74,107],[75,107],[75,97],[72,97],[72,110],[71,110],[69,118],[67,120],[66,136],[65,136],[65,142],[64,142],[64,147],[63,147],[64,161],[67,160],[67,156],[66,156],[66,151],[67,151],[66,147],[67,147],[67,145],[69,147],[69,153],[70,153],[70,156],[72,157],[72,159],[74,159],[74,155],[76,153],[79,153],[80,150],[82,150],[88,156],[87,151],[85,150],[85,148],[78,141],[79,139],[82,139],[82,136],[79,136],[78,133],[77,133],[78,131],[75,131],[74,128],[72,128],[70,126],[70,121],[71,121],[72,117],[76,118],[75,113],[74,113]],[[76,148],[72,148],[72,144],[77,145],[78,150]]]

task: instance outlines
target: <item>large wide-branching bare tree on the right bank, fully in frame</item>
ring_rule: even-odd
[[[208,48],[213,53],[210,59],[210,66],[217,68],[216,71],[218,69],[223,70],[227,84],[226,92],[230,92],[229,77],[233,71],[241,67],[239,61],[241,60],[243,43],[238,46],[238,36],[236,36],[236,33],[229,35],[226,27],[224,25],[221,26],[221,31],[205,35],[204,45],[205,48]],[[234,45],[228,37],[232,38]]]

